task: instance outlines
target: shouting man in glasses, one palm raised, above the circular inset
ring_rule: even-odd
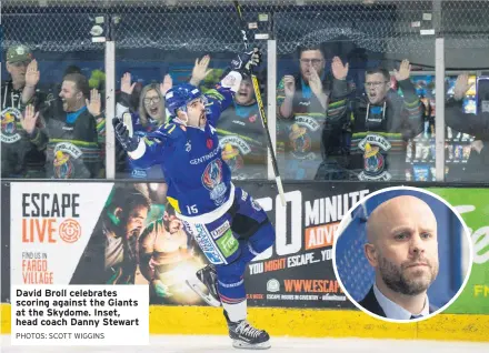
[[[395,70],[403,97],[391,89],[388,70],[366,72],[366,93],[352,100],[349,168],[359,180],[406,180],[407,141],[423,131],[425,104],[419,100],[403,60]]]

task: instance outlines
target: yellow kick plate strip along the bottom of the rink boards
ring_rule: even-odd
[[[1,304],[2,333],[10,333],[10,305]],[[248,310],[250,321],[272,336],[365,337],[489,342],[489,315],[440,314],[412,324],[371,319],[359,311],[260,309]],[[151,334],[227,334],[219,309],[153,305]]]

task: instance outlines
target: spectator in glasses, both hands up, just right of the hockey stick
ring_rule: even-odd
[[[346,97],[352,88],[347,83],[348,64],[333,58],[327,73],[326,59],[320,47],[301,48],[300,73],[285,75],[277,92],[281,121],[280,140],[286,143],[286,179],[312,180],[321,157],[323,125],[335,140],[327,151],[329,160],[343,168],[347,162],[342,129],[348,123]]]

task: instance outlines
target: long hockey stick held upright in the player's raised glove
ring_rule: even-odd
[[[241,24],[240,30],[242,33],[242,41],[244,42],[246,50],[248,50],[249,43],[248,43],[248,36],[247,36],[247,23],[244,21],[244,18],[242,17],[241,6],[239,4],[239,1],[233,1],[233,2],[234,2],[236,12],[238,12],[238,18],[239,18],[239,21]],[[260,85],[258,83],[258,78],[252,72],[251,72],[251,81],[253,82],[255,97],[257,98],[258,110],[260,112],[261,123],[263,125],[265,131],[267,132],[267,145],[268,145],[268,149],[270,150],[271,164],[273,165],[277,189],[280,194],[280,200],[282,202],[282,206],[286,206],[287,205],[286,195],[283,194],[282,180],[280,179],[279,168],[277,164],[277,158],[276,158],[276,154],[273,151],[273,145],[271,144],[271,137],[270,137],[270,131],[268,130],[268,121],[267,121],[267,115],[265,114],[263,100],[261,99],[261,93],[260,93]]]

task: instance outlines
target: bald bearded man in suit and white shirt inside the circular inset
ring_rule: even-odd
[[[422,200],[397,196],[380,204],[367,221],[365,255],[376,282],[360,305],[393,320],[426,316],[427,291],[438,275],[437,219]]]

